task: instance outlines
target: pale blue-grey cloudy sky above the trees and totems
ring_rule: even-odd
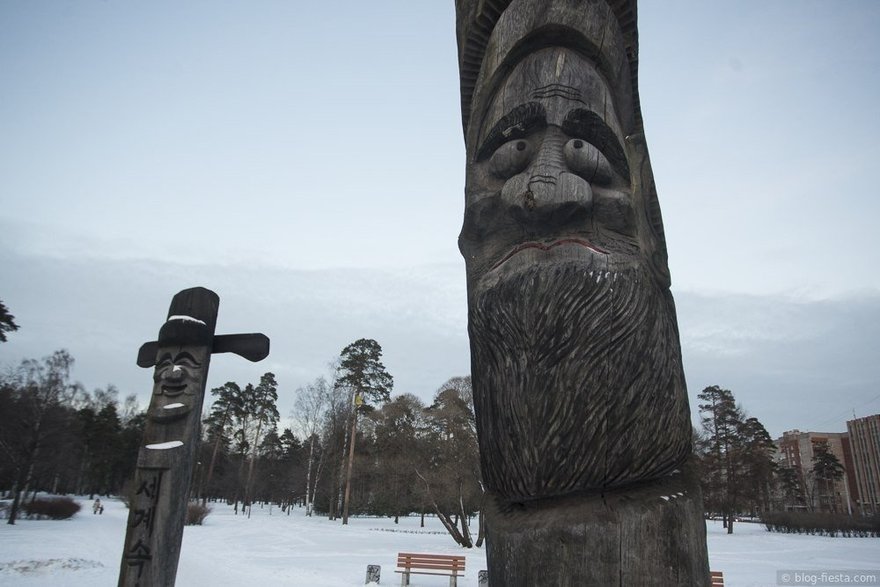
[[[172,295],[262,331],[282,414],[349,342],[469,369],[453,1],[0,2],[0,364],[67,348],[143,404]],[[692,405],[880,412],[880,3],[642,2],[640,89]]]

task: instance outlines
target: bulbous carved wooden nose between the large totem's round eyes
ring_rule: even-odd
[[[593,190],[569,171],[567,140],[562,132],[548,130],[532,165],[505,183],[502,200],[518,221],[552,228],[589,216]]]

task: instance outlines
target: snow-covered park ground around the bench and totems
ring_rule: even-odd
[[[15,526],[0,521],[0,585],[116,584],[127,510],[108,499],[104,514],[96,516],[91,502],[80,503],[82,510],[70,520],[20,520]],[[247,519],[225,504],[213,507],[204,526],[184,531],[180,587],[355,587],[363,585],[368,564],[382,566],[382,585],[399,585],[394,563],[400,551],[465,554],[462,587],[477,587],[477,571],[486,568],[483,549],[457,547],[433,518],[425,528],[417,517],[397,525],[388,518],[352,518],[346,527],[307,518],[301,510],[287,516],[278,508],[255,507]],[[880,569],[878,538],[772,534],[744,523],[728,536],[720,522],[709,522],[708,532],[710,567],[724,572],[729,587],[775,586],[782,569]],[[446,587],[448,580],[414,575],[412,585]]]

